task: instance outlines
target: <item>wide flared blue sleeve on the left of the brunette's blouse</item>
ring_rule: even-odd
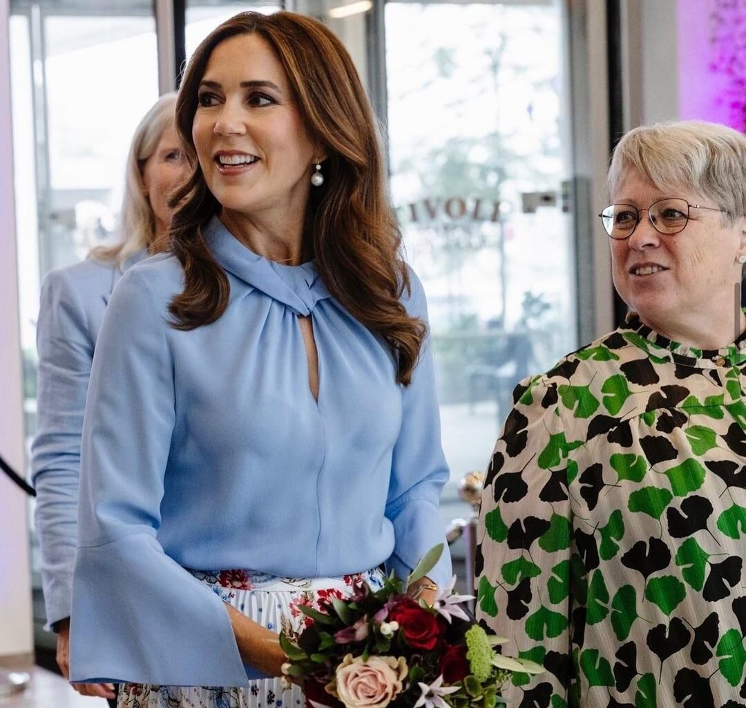
[[[222,600],[164,553],[160,502],[175,426],[168,297],[148,265],[117,285],[98,336],[81,457],[70,680],[245,686]],[[158,275],[162,275],[160,271]]]

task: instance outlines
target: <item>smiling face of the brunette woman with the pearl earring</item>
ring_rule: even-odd
[[[240,34],[213,49],[192,140],[224,214],[302,219],[321,155],[280,60],[259,34]]]

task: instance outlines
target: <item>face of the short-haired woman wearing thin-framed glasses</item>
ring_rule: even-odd
[[[612,202],[647,209],[665,197],[718,207],[683,188],[675,194],[662,192],[634,168],[625,173]],[[733,329],[734,285],[742,270],[737,258],[746,253],[746,220],[740,217],[733,226],[723,226],[723,217],[692,208],[682,232],[664,235],[643,211],[629,238],[609,239],[615,288],[645,324],[674,340],[695,343],[720,320]]]

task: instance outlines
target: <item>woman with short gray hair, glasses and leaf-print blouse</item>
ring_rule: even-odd
[[[526,379],[495,446],[478,614],[509,705],[736,707],[746,697],[746,137],[636,128],[601,220],[626,323]]]

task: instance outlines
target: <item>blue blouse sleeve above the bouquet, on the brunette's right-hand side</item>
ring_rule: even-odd
[[[410,270],[407,311],[427,324],[427,303],[417,276]],[[386,518],[394,527],[395,547],[386,570],[406,578],[430,548],[443,544],[443,553],[427,574],[443,587],[451,580],[451,554],[439,515],[448,464],[440,438],[440,414],[435,389],[430,335],[422,345],[412,382],[401,387],[402,423],[392,456]]]

